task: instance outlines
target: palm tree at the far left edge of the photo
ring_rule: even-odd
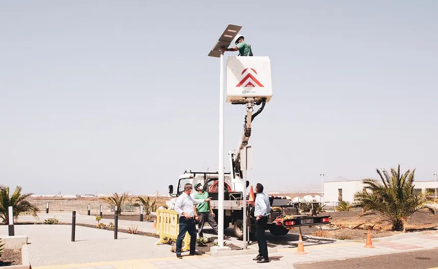
[[[32,215],[37,217],[38,208],[28,200],[24,200],[32,194],[21,194],[21,187],[17,186],[14,193],[9,197],[9,187],[0,186],[0,218],[3,223],[9,222],[9,206],[13,207],[14,217],[19,215]]]

